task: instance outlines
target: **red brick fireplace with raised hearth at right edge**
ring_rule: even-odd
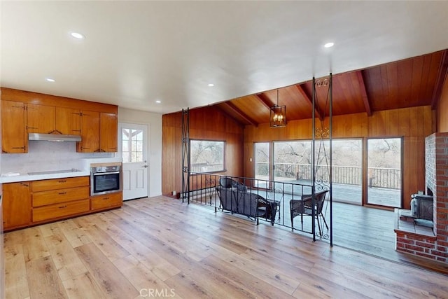
[[[426,188],[433,195],[433,231],[395,229],[396,250],[448,263],[448,133],[426,137]]]

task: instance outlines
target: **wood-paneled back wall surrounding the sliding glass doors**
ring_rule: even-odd
[[[333,138],[403,137],[403,203],[409,209],[411,195],[425,190],[425,137],[435,132],[430,106],[333,117]],[[320,125],[316,122],[316,125]],[[328,118],[323,124],[328,127]],[[269,124],[244,130],[244,176],[253,177],[253,142],[312,138],[311,120],[294,120],[286,127]]]

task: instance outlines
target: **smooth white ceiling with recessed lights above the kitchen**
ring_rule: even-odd
[[[0,28],[1,86],[169,113],[446,49],[448,1],[1,1]]]

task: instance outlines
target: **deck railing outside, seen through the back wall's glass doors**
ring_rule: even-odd
[[[362,184],[362,167],[357,166],[333,166],[332,182],[347,185]],[[400,189],[400,169],[369,167],[369,187]],[[269,162],[255,163],[255,177],[267,177],[269,174]],[[328,178],[327,165],[317,165],[316,179]],[[274,163],[274,179],[311,180],[311,165],[295,163]]]

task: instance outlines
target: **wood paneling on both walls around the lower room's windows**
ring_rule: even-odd
[[[162,193],[182,188],[182,115],[162,118]],[[316,125],[320,125],[317,121]],[[328,118],[324,126],[328,126]],[[225,140],[225,174],[253,177],[253,143],[312,138],[312,121],[293,120],[286,127],[269,124],[241,128],[214,107],[190,111],[190,139]],[[377,111],[333,117],[333,138],[403,137],[403,203],[409,209],[411,195],[425,190],[425,137],[435,132],[435,111],[430,106]],[[365,178],[364,178],[365,179]]]

